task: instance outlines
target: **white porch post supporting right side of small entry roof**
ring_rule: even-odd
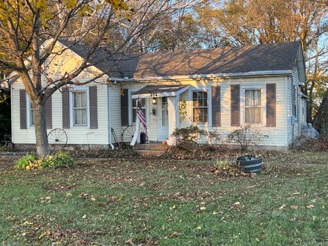
[[[176,131],[179,126],[179,99],[180,96],[167,97],[167,111],[169,117],[169,134],[167,138],[167,145],[176,145],[176,138],[172,136],[172,133]]]

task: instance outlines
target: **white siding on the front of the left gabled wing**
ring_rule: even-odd
[[[53,59],[47,68],[52,79],[59,78],[65,71],[76,68],[81,57],[78,57],[70,50],[65,51],[60,57],[50,57]],[[95,68],[90,68],[81,72],[77,81],[83,82],[94,77],[97,72]],[[44,83],[45,79],[42,78]],[[69,128],[65,129],[68,135],[68,144],[108,144],[109,143],[109,120],[107,110],[107,85],[105,79],[97,79],[98,83],[89,83],[86,86],[96,85],[98,98],[98,129],[90,128]],[[35,143],[34,127],[27,124],[27,129],[20,129],[20,109],[19,109],[19,90],[24,89],[23,82],[18,79],[12,84],[12,141],[13,143]],[[52,95],[52,117],[53,128],[63,128],[62,126],[62,102],[61,92],[57,91]],[[48,132],[51,131],[50,129]]]

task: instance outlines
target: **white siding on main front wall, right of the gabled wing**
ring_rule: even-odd
[[[226,136],[228,133],[238,129],[238,127],[230,126],[230,85],[240,84],[244,85],[257,85],[264,86],[266,83],[276,83],[277,91],[277,126],[267,127],[259,126],[260,131],[263,131],[266,135],[269,135],[268,139],[265,139],[261,145],[264,146],[286,146],[286,117],[285,117],[285,77],[264,77],[264,78],[247,78],[247,79],[219,79],[215,81],[179,81],[179,84],[190,85],[191,87],[210,87],[212,85],[221,86],[221,127],[209,127],[207,125],[200,126],[208,131],[218,131],[221,135]],[[177,82],[164,82],[164,84],[176,84]],[[130,88],[131,90],[137,90],[146,85],[161,85],[163,83],[129,83],[125,84],[124,88]],[[265,94],[263,94],[265,98]],[[191,124],[191,109],[189,102],[189,92],[184,92],[180,96],[180,100],[187,101],[187,119],[182,122],[181,127],[186,127]],[[157,102],[157,104],[159,101]],[[152,115],[151,108],[153,107],[151,102],[149,110],[149,125],[148,134],[151,141],[157,141],[157,116]],[[157,113],[158,115],[158,113]],[[115,117],[112,115],[112,117]],[[262,116],[264,119],[266,115]]]

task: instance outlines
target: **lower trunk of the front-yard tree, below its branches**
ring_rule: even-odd
[[[34,128],[36,131],[36,154],[38,155],[38,159],[44,158],[49,154],[45,113],[44,102],[33,103]]]

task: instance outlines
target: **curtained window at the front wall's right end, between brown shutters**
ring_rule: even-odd
[[[244,94],[244,122],[245,124],[262,123],[261,90],[245,90]]]

